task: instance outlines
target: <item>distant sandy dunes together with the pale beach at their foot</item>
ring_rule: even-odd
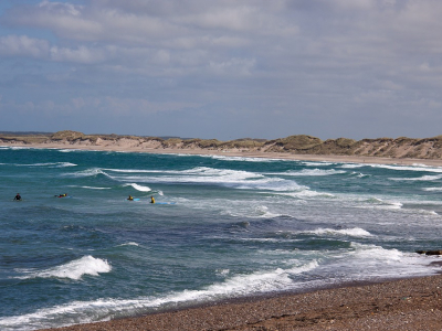
[[[325,160],[368,163],[424,163],[442,166],[442,136],[425,139],[379,138],[359,141],[339,138],[320,140],[311,136],[287,138],[239,139],[180,139],[117,135],[84,135],[60,131],[53,135],[0,135],[2,146],[34,148],[72,148],[106,151],[155,153],[228,154],[241,157],[282,158],[296,160]]]

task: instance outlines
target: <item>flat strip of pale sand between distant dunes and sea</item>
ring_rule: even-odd
[[[137,148],[129,146],[99,146],[99,145],[65,145],[65,143],[6,143],[0,147],[24,147],[36,149],[72,149],[88,151],[108,152],[144,152],[156,154],[192,154],[192,156],[223,156],[239,158],[263,158],[294,161],[317,161],[317,162],[343,162],[343,163],[366,163],[366,164],[398,164],[414,166],[424,164],[429,167],[442,167],[442,159],[409,159],[409,158],[382,158],[361,156],[336,156],[336,154],[299,154],[292,152],[260,152],[215,149],[173,149],[173,148]]]

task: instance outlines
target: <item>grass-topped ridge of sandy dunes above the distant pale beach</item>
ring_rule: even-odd
[[[55,134],[0,134],[0,145],[8,146],[65,146],[70,148],[127,148],[137,150],[182,150],[234,151],[234,152],[278,152],[315,156],[355,156],[398,159],[441,159],[442,136],[433,138],[377,138],[352,140],[347,138],[322,140],[298,135],[274,140],[236,139],[180,139],[118,135],[84,135],[77,131]]]

